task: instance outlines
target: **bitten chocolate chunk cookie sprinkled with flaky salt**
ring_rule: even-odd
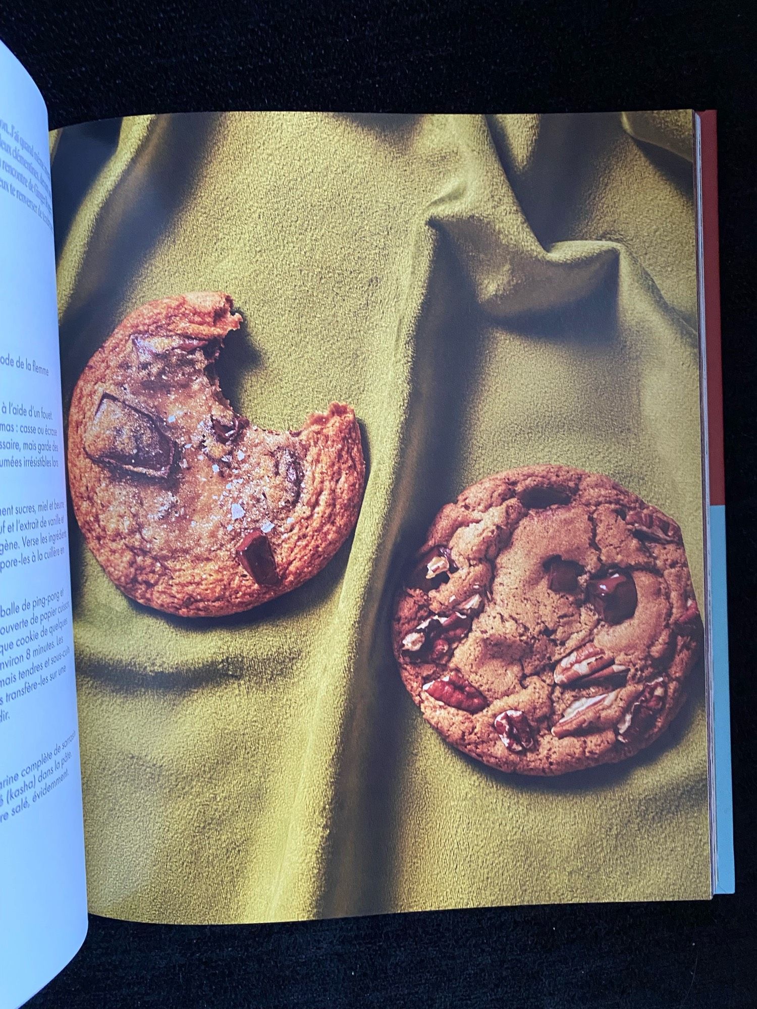
[[[71,404],[79,526],[133,599],[234,613],[312,578],[357,521],[364,480],[350,407],[267,431],[224,399],[214,362],[241,316],[220,292],[148,302],[84,369]]]

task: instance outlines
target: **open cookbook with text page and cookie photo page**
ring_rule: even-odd
[[[714,113],[48,137],[0,48],[0,1005],[88,905],[733,891]]]

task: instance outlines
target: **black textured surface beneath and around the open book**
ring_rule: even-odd
[[[35,1009],[757,1004],[757,48],[747,4],[662,6],[0,5],[50,127],[214,109],[719,110],[736,896],[228,927],[92,917]]]

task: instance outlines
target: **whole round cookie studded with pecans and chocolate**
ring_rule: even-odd
[[[565,466],[490,476],[446,504],[393,624],[426,720],[484,764],[538,775],[648,746],[700,637],[678,526]]]

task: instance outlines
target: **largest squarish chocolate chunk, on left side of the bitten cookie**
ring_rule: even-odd
[[[84,450],[95,462],[165,479],[176,445],[155,418],[106,393],[85,431]]]

